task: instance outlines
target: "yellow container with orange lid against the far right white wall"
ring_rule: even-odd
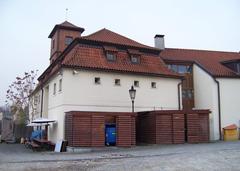
[[[238,127],[235,124],[226,126],[223,128],[224,141],[236,141],[238,140]]]

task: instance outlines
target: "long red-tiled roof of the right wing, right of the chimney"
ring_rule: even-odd
[[[221,62],[240,59],[240,53],[166,48],[160,53],[163,60],[195,62],[214,77],[240,77]]]

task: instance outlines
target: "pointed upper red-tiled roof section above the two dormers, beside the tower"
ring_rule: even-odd
[[[93,34],[88,35],[88,36],[84,36],[82,38],[88,39],[88,40],[93,40],[93,41],[108,42],[108,43],[113,43],[113,44],[118,44],[118,45],[127,45],[127,46],[131,46],[131,47],[146,48],[146,49],[153,49],[153,50],[159,51],[159,49],[138,43],[132,39],[129,39],[125,36],[122,36],[118,33],[113,32],[113,31],[110,31],[106,28],[101,29]]]

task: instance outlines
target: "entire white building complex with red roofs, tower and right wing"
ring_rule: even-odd
[[[238,125],[239,53],[165,48],[164,35],[156,35],[155,47],[150,47],[108,29],[87,36],[83,32],[67,21],[55,25],[49,35],[50,65],[31,95],[30,119],[57,121],[48,130],[51,141],[66,138],[78,122],[79,129],[89,129],[78,136],[78,144],[102,146],[104,133],[97,132],[96,125],[102,129],[104,123],[115,123],[131,132],[126,140],[120,137],[126,137],[126,130],[119,130],[119,144],[134,145],[136,115],[128,94],[132,85],[137,90],[136,112],[210,109],[211,140],[221,138],[223,127]],[[166,112],[152,116],[159,113]],[[184,115],[179,116],[184,121]]]

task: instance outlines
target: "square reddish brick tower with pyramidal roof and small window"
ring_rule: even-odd
[[[51,38],[50,62],[52,63],[75,39],[81,37],[84,28],[75,26],[68,21],[55,25],[48,38]]]

